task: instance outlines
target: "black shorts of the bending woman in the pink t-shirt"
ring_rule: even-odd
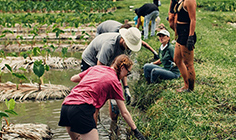
[[[95,107],[93,105],[62,105],[58,125],[69,126],[72,132],[86,134],[96,128],[94,113]]]

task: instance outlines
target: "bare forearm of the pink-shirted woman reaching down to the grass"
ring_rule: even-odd
[[[124,120],[127,122],[127,124],[131,127],[132,130],[135,130],[137,127],[136,127],[129,111],[126,108],[124,101],[116,100],[116,103],[120,109],[121,115],[124,118]]]

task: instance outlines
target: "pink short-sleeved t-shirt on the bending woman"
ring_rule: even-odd
[[[79,74],[81,81],[62,104],[92,104],[101,108],[108,99],[124,101],[121,83],[114,69],[97,65]]]

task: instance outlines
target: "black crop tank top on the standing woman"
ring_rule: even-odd
[[[177,21],[190,23],[188,12],[183,7],[183,1],[177,3],[175,10],[178,13]]]

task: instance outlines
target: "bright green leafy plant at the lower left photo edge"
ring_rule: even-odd
[[[12,115],[18,115],[15,111],[15,100],[14,99],[10,99],[9,101],[7,99],[5,99],[5,105],[7,106],[7,109],[5,111],[0,111],[0,118],[2,120],[2,118],[5,119],[6,124],[9,126],[9,121],[6,119],[6,117],[9,118],[8,114],[12,114]]]

